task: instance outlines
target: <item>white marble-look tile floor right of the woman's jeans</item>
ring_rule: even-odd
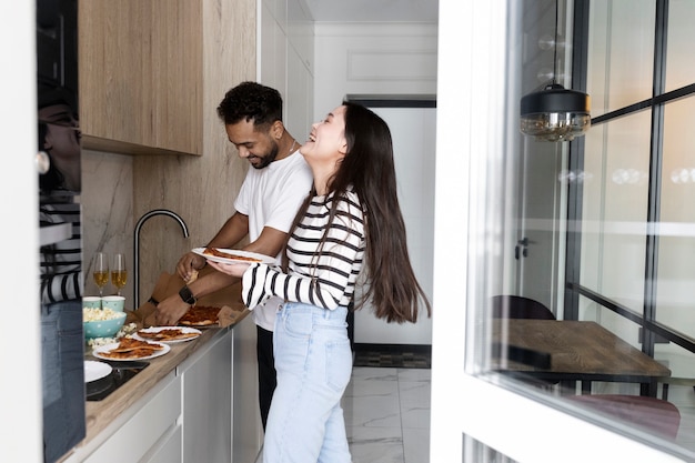
[[[352,370],[343,410],[353,463],[430,461],[430,381],[424,369]]]

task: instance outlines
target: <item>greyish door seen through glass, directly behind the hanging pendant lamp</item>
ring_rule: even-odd
[[[565,47],[556,48],[547,44],[555,36],[556,18],[566,14],[564,2],[555,0],[526,0],[521,20],[521,34],[525,39],[521,43],[521,52],[513,59],[514,74],[522,94],[537,91],[548,83],[553,73],[557,74],[558,83],[567,74],[563,59],[570,51]],[[556,14],[557,12],[557,14]],[[562,23],[562,21],[560,21]],[[560,40],[566,41],[567,33],[560,29]],[[561,182],[564,168],[564,143],[536,142],[524,138],[518,131],[511,137],[517,140],[518,155],[512,160],[516,164],[518,179],[518,209],[514,224],[514,259],[516,274],[514,293],[542,302],[555,309],[556,276],[562,274],[562,240],[560,224],[564,205],[564,184]]]

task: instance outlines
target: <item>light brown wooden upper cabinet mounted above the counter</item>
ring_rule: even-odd
[[[200,0],[80,0],[82,145],[202,154]]]

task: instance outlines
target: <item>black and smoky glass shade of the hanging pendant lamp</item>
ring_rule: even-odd
[[[541,141],[570,141],[591,127],[591,98],[552,83],[521,100],[521,131]]]

